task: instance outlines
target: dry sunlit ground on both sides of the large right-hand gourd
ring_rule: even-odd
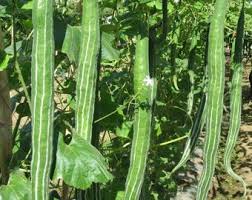
[[[225,95],[226,111],[223,116],[222,135],[218,155],[218,164],[213,178],[212,188],[209,192],[208,199],[214,200],[252,200],[252,94],[249,83],[249,73],[252,70],[251,62],[244,66],[244,75],[242,82],[243,106],[241,116],[241,127],[239,138],[233,153],[232,167],[233,170],[242,176],[247,183],[247,196],[243,198],[242,185],[231,178],[223,167],[223,154],[225,141],[229,126],[229,95]],[[226,80],[230,80],[230,74],[227,70]],[[228,84],[227,84],[228,85]],[[227,88],[226,85],[226,88]],[[228,89],[227,89],[228,92]],[[203,169],[202,148],[203,137],[200,137],[200,143],[188,163],[188,171],[181,172],[178,177],[183,184],[178,186],[176,200],[194,200],[197,189],[197,182]]]

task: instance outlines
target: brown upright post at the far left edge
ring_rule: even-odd
[[[0,51],[3,49],[3,35],[0,24]],[[7,184],[8,164],[12,154],[10,91],[7,72],[0,71],[0,184]]]

